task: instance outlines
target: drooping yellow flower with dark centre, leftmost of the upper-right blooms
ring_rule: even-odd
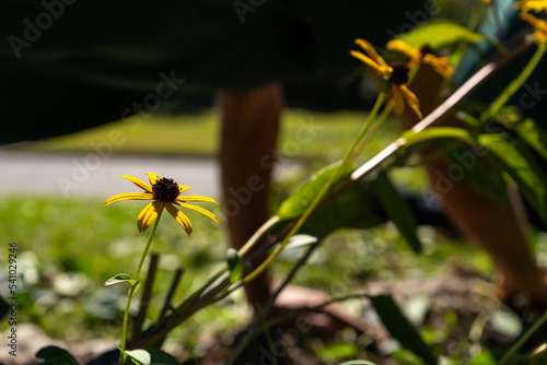
[[[374,47],[364,39],[356,39],[356,44],[360,46],[366,55],[356,50],[351,50],[350,55],[361,60],[379,75],[391,82],[395,114],[403,114],[405,105],[408,105],[416,113],[418,118],[423,118],[420,111],[418,97],[408,90],[406,85],[408,81],[408,66],[403,62],[395,62],[391,66],[387,64],[376,52]]]

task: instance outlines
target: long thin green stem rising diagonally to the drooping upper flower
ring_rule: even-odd
[[[371,110],[371,114],[366,118],[366,121],[364,125],[361,127],[361,130],[359,131],[359,134],[357,136],[356,140],[353,141],[353,144],[351,144],[351,148],[346,152],[346,155],[344,156],[342,163],[338,168],[335,170],[333,175],[330,175],[329,179],[327,182],[323,186],[321,191],[317,193],[315,199],[312,201],[312,203],[307,207],[307,209],[304,211],[304,213],[300,216],[300,219],[296,221],[296,223],[292,226],[291,231],[289,234],[284,237],[284,239],[281,242],[281,244],[271,252],[271,255],[264,260],[264,262],[256,268],[253,272],[251,272],[248,275],[246,275],[243,279],[243,284],[246,284],[254,280],[256,276],[258,276],[260,273],[263,273],[268,266],[279,256],[279,254],[284,249],[287,244],[289,244],[289,239],[302,227],[302,225],[305,223],[305,221],[310,217],[314,209],[317,207],[317,204],[321,202],[323,197],[327,193],[327,191],[330,189],[330,187],[338,181],[340,178],[344,169],[346,168],[347,164],[351,160],[351,156],[353,155],[353,152],[358,148],[359,143],[361,142],[361,139],[364,137],[366,131],[369,130],[371,123],[376,119],[376,115],[380,110],[380,107],[382,106],[382,103],[384,102],[387,91],[389,90],[391,82],[386,82],[384,90],[382,90],[382,93],[380,93],[376,103],[374,104],[374,107]]]

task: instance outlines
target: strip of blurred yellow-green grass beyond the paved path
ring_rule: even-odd
[[[287,109],[282,115],[279,149],[287,157],[339,158],[366,118],[364,111],[318,113]],[[113,133],[113,131],[116,131]],[[386,121],[370,151],[397,134],[395,120]],[[117,134],[116,134],[117,133]],[[114,136],[114,137],[113,137]],[[162,153],[214,156],[220,122],[214,109],[189,115],[131,118],[33,143],[37,151],[91,151],[94,143],[113,140],[117,153]]]

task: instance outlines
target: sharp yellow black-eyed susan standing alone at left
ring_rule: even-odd
[[[181,193],[185,192],[188,189],[191,189],[188,186],[178,185],[173,179],[168,179],[165,177],[160,178],[158,174],[146,174],[150,179],[150,185],[147,182],[132,177],[132,176],[119,176],[128,179],[129,181],[137,185],[139,188],[143,189],[146,192],[124,192],[118,193],[117,196],[110,197],[108,200],[104,202],[104,207],[109,205],[112,203],[116,203],[123,200],[153,200],[149,203],[144,209],[140,212],[137,217],[137,228],[139,233],[147,231],[152,223],[154,223],[155,219],[160,214],[160,212],[165,208],[167,212],[182,225],[184,231],[188,234],[191,234],[191,223],[190,220],[184,214],[181,210],[175,208],[173,204],[184,207],[201,214],[209,216],[214,222],[219,223],[219,220],[214,214],[209,212],[208,210],[196,207],[191,204],[187,204],[187,201],[208,201],[219,204],[211,198],[201,197],[201,196],[181,196]]]

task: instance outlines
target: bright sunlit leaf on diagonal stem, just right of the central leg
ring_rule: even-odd
[[[340,163],[335,163],[325,168],[321,169],[310,178],[299,190],[296,190],[293,195],[291,195],[288,199],[286,199],[281,205],[279,207],[277,215],[282,220],[294,220],[302,214],[304,214],[305,210],[315,197],[319,193],[323,186],[328,181],[330,176],[338,169]],[[352,172],[352,166],[344,167],[344,172],[341,174],[340,180],[347,178]],[[336,186],[335,181],[334,186]]]

